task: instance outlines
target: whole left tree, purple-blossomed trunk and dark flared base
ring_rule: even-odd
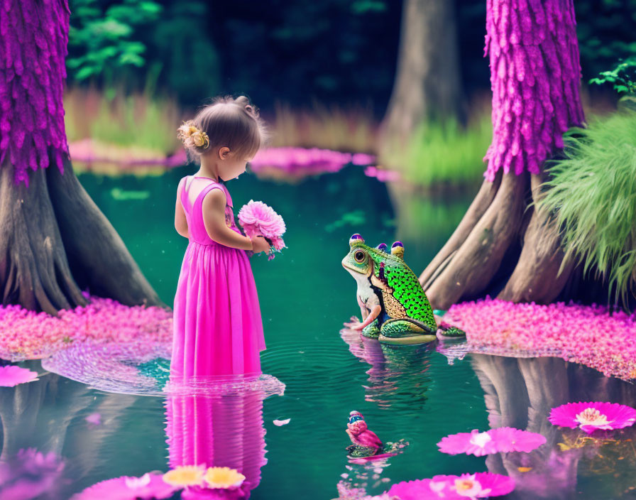
[[[0,6],[2,304],[57,315],[81,290],[163,305],[73,173],[64,126],[67,0]]]

